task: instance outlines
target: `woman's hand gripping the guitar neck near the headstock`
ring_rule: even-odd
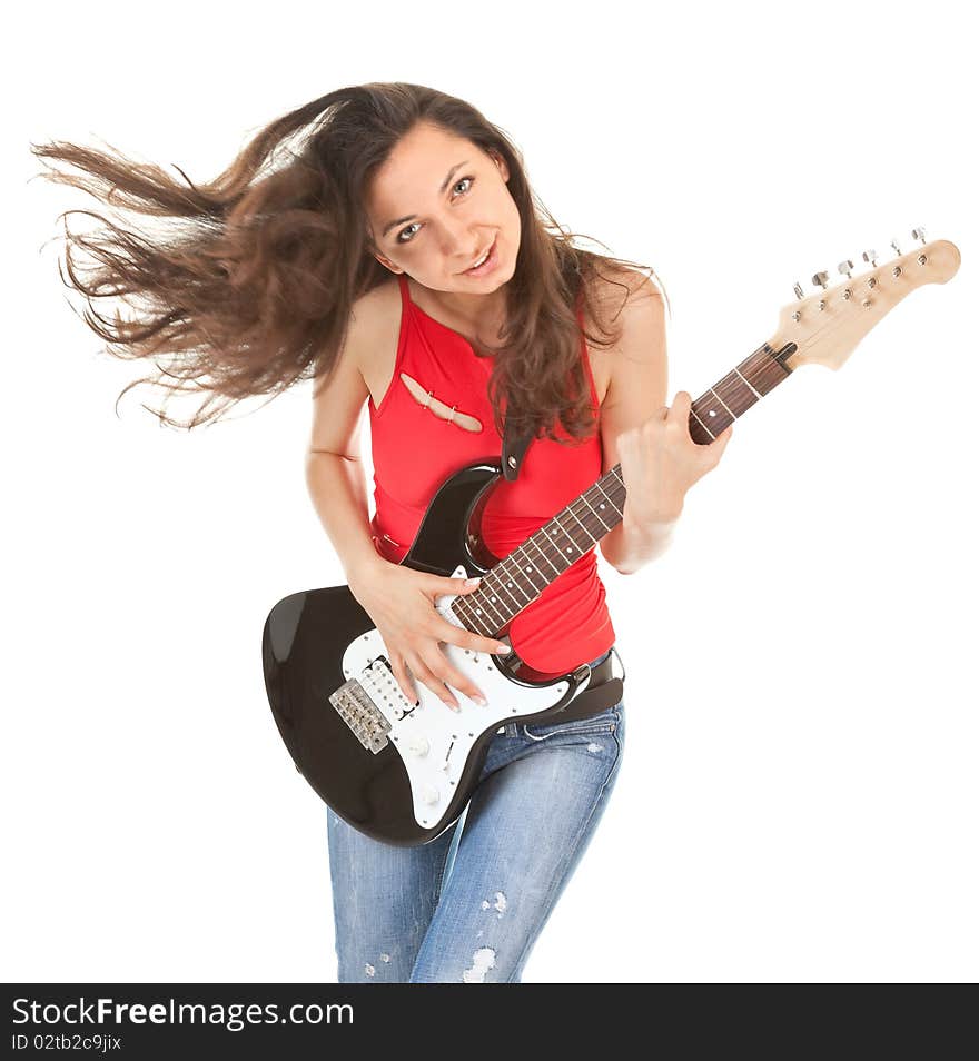
[[[706,446],[690,437],[691,396],[679,390],[672,406],[616,439],[626,507],[637,523],[672,523],[683,510],[686,492],[716,467],[734,425]]]

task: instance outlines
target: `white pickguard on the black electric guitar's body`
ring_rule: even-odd
[[[465,577],[458,567],[453,577]],[[438,597],[436,609],[453,626],[462,626],[449,608],[456,595]],[[432,829],[445,814],[462,776],[469,751],[490,728],[498,728],[513,715],[545,711],[556,704],[571,683],[556,682],[543,688],[528,688],[510,681],[488,653],[474,653],[443,642],[446,657],[463,674],[472,676],[488,703],[485,707],[458,690],[453,695],[459,705],[455,712],[426,685],[416,682],[421,703],[415,707],[400,691],[394,675],[383,664],[370,666],[387,650],[377,629],[357,637],[344,653],[344,677],[357,678],[374,706],[390,723],[387,738],[405,764],[412,785],[415,820]]]

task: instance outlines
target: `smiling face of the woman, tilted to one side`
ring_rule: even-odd
[[[520,212],[508,180],[502,158],[441,128],[416,126],[365,195],[374,256],[432,290],[456,296],[497,290],[513,276],[520,247]],[[495,268],[466,275],[494,240]]]

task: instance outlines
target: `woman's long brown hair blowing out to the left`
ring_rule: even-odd
[[[59,215],[89,215],[105,225],[88,235],[65,226],[66,286],[86,297],[83,319],[107,340],[108,353],[150,359],[158,369],[119,398],[140,383],[161,385],[168,398],[205,391],[188,423],[165,408],[150,409],[162,424],[189,429],[218,419],[243,398],[275,397],[303,378],[328,380],[353,303],[390,277],[373,254],[365,189],[418,122],[498,153],[510,170],[522,232],[502,341],[493,348],[490,397],[497,430],[503,433],[505,395],[507,415],[522,432],[555,438],[560,419],[573,438],[592,434],[597,409],[580,357],[575,304],[581,298],[584,319],[611,336],[585,330],[587,341],[611,346],[619,333],[601,324],[605,314],[590,280],[604,276],[627,295],[626,285],[601,266],[611,265],[620,277],[623,268],[647,267],[574,247],[574,234],[534,195],[521,153],[501,129],[461,99],[405,82],[342,88],[277,118],[209,184],[194,184],[175,166],[181,182],[118,152],[31,143],[39,158],[82,171],[49,166],[40,175],[46,179],[73,185],[123,212],[165,219],[164,231],[150,234],[136,231],[125,217],[120,226],[88,210]],[[97,260],[90,276],[79,272],[72,247]],[[117,311],[107,319],[92,305],[107,297],[128,305],[137,299],[138,315],[123,319]]]

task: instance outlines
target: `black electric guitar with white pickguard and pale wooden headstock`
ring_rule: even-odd
[[[690,434],[706,445],[783,383],[800,365],[838,369],[902,298],[924,284],[945,284],[959,268],[950,242],[927,244],[783,307],[772,337],[691,404]],[[461,468],[428,505],[408,567],[453,577],[481,575],[478,589],[447,595],[436,608],[449,623],[508,644],[501,631],[622,519],[621,465],[610,468],[510,555],[493,556],[479,537],[481,515],[502,474],[487,458]],[[261,658],[273,715],[296,769],[340,817],[368,836],[399,846],[429,843],[454,824],[475,789],[490,742],[506,722],[560,721],[589,687],[587,664],[544,674],[515,652],[473,653],[443,643],[472,675],[486,706],[461,696],[449,711],[427,686],[412,703],[392,673],[382,637],[348,586],[294,593],[265,622]],[[421,683],[419,683],[421,685]]]

